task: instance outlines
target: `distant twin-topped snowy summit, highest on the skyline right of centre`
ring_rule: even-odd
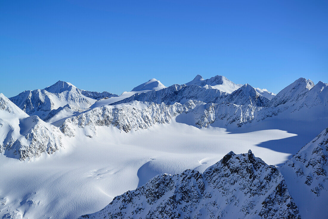
[[[215,77],[211,77],[209,79],[204,80],[203,77],[197,75],[192,81],[186,83],[186,85],[195,84],[200,87],[207,87],[210,89],[218,89],[222,92],[232,93],[242,86],[242,84],[235,84],[228,78],[224,76],[217,75]]]

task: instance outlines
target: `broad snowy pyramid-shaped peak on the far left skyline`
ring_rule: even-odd
[[[19,108],[29,115],[37,115],[41,119],[49,119],[51,110],[67,104],[88,109],[99,98],[117,96],[108,92],[89,92],[76,88],[71,83],[58,81],[55,84],[34,91],[24,91],[10,98]]]

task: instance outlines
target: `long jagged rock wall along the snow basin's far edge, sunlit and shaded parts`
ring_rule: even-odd
[[[192,125],[208,127],[240,127],[253,121],[264,120],[277,115],[279,108],[264,108],[252,105],[236,105],[230,102],[220,104],[189,100],[185,104],[173,105],[132,101],[111,106],[95,107],[73,115],[65,120],[54,122],[67,136],[75,136],[76,128],[85,129],[89,137],[96,136],[97,126],[115,126],[120,130],[146,129],[153,124],[170,123],[175,116],[184,114]]]

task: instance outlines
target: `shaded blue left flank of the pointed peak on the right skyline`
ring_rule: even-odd
[[[312,80],[301,77],[296,81],[282,89],[272,100],[270,105],[277,107],[279,105],[291,105],[303,97],[312,87],[314,83]]]

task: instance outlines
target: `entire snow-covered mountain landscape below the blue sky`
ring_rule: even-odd
[[[327,127],[305,78],[0,94],[0,218],[328,218]]]

